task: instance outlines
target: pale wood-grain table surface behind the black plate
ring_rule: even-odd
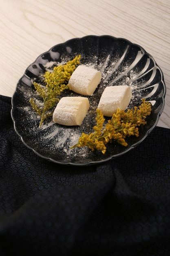
[[[56,44],[111,35],[141,45],[164,74],[166,104],[157,126],[170,128],[170,1],[0,0],[0,94],[12,97],[26,68]]]

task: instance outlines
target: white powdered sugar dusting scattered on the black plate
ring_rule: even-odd
[[[97,57],[96,57],[97,59]],[[108,55],[106,57],[106,60],[99,60],[97,59],[97,62],[99,65],[96,67],[96,63],[88,63],[88,67],[95,68],[99,70],[102,73],[102,80],[99,83],[97,89],[93,93],[92,96],[86,96],[88,97],[88,100],[90,102],[90,108],[88,110],[88,113],[86,117],[84,118],[84,121],[81,126],[72,126],[72,127],[66,127],[59,124],[54,124],[53,121],[44,122],[41,128],[38,128],[38,122],[40,121],[40,118],[33,112],[31,109],[31,106],[24,107],[24,112],[26,116],[29,116],[29,122],[35,122],[36,124],[31,124],[31,129],[34,134],[37,134],[37,139],[35,139],[35,144],[43,144],[46,146],[51,152],[60,152],[65,155],[67,159],[72,159],[74,157],[81,157],[81,158],[87,158],[91,151],[88,148],[74,148],[71,149],[70,147],[77,144],[79,137],[81,136],[82,132],[89,133],[93,132],[93,126],[95,126],[95,116],[96,116],[96,109],[100,100],[100,97],[102,95],[102,92],[104,91],[104,88],[106,86],[110,85],[117,85],[117,81],[119,80],[119,85],[129,85],[132,94],[137,90],[139,87],[139,83],[134,83],[135,81],[135,72],[133,70],[130,70],[128,72],[128,66],[124,68],[124,72],[118,74],[117,76],[117,67],[119,67],[117,62],[110,62],[110,56]],[[121,61],[119,60],[119,63]],[[52,72],[54,65],[63,65],[65,64],[65,61],[62,61],[62,63],[57,62],[49,62],[44,65],[45,69]],[[111,79],[110,79],[111,77]],[[113,79],[115,77],[115,79]],[[119,77],[119,78],[117,78]],[[121,80],[121,78],[123,78]],[[42,79],[42,74],[40,74],[39,79]],[[25,91],[26,90],[26,91]],[[38,97],[38,94],[35,90],[31,89],[31,93],[27,92],[27,88],[22,88],[22,91],[24,93],[24,97],[33,97],[35,100],[35,103],[39,106],[43,105],[42,100]],[[30,91],[30,90],[29,90]],[[79,94],[76,94],[73,91],[65,91],[62,96],[78,96]],[[137,94],[134,94],[132,96],[132,101],[134,100],[134,97],[136,97]],[[79,95],[83,96],[83,95]],[[140,92],[138,92],[137,97],[140,100]],[[131,104],[132,105],[132,104]]]

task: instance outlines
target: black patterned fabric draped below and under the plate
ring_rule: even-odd
[[[170,130],[102,165],[26,148],[0,96],[0,256],[169,256]]]

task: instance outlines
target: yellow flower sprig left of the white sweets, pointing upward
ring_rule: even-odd
[[[43,107],[38,106],[33,98],[29,100],[33,110],[41,117],[39,128],[47,117],[53,115],[51,109],[60,100],[57,96],[64,90],[69,89],[68,81],[77,65],[79,65],[80,57],[78,55],[65,65],[54,67],[53,72],[46,71],[44,74],[44,87],[39,83],[33,83],[35,90],[43,99]]]

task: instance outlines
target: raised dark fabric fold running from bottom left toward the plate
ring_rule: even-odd
[[[0,229],[2,248],[7,253],[12,250],[18,254],[19,251],[20,255],[30,255],[31,252],[68,255],[79,229],[86,226],[97,205],[113,186],[112,169],[101,166],[83,185],[43,189],[3,218]]]

